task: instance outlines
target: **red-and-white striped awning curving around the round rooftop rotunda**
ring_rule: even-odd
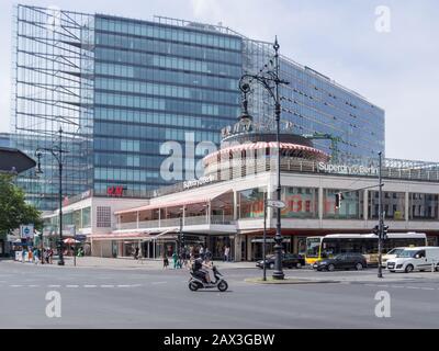
[[[299,144],[292,144],[292,143],[279,143],[280,148],[282,150],[297,150],[297,151],[307,151],[311,154],[314,154],[316,157],[319,158],[328,158],[329,156],[325,154],[324,151],[316,149],[314,147],[309,147],[306,145],[299,145]],[[262,149],[262,148],[278,148],[278,143],[277,141],[258,141],[258,143],[245,143],[245,144],[239,144],[239,145],[234,145],[230,147],[226,147],[224,149],[221,149],[218,151],[215,151],[213,154],[207,155],[204,157],[204,161],[211,160],[213,158],[216,158],[221,155],[225,154],[233,154],[233,152],[240,152],[245,150],[256,150],[256,149]]]

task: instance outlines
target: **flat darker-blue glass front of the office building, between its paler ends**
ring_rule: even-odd
[[[160,145],[184,150],[188,134],[218,144],[239,112],[238,36],[97,15],[94,54],[97,193],[120,184],[143,195],[169,184]]]

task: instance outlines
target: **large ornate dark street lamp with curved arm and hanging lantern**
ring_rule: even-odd
[[[247,111],[247,94],[250,92],[251,81],[257,81],[269,92],[270,97],[274,100],[274,116],[275,116],[275,141],[278,144],[278,186],[277,186],[277,200],[281,201],[281,152],[280,152],[280,120],[281,120],[281,98],[279,93],[280,84],[289,84],[288,81],[280,79],[280,65],[279,65],[279,43],[275,37],[273,49],[274,49],[274,61],[270,60],[270,64],[274,65],[273,69],[264,72],[263,75],[248,75],[245,73],[239,80],[239,89],[244,93],[243,101],[243,115],[239,117],[239,123],[246,127],[248,132],[252,118]],[[247,82],[249,80],[249,82]],[[274,83],[274,87],[272,86]],[[282,270],[282,234],[281,234],[281,208],[277,210],[277,225],[275,225],[275,237],[274,237],[274,254],[275,263],[272,278],[274,280],[283,280],[284,273]]]

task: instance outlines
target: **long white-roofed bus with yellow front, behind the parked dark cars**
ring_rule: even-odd
[[[427,246],[424,233],[391,233],[383,240],[385,253],[396,247]],[[306,264],[314,264],[323,258],[338,253],[356,252],[365,257],[368,264],[378,264],[378,236],[374,234],[328,234],[306,238]]]

